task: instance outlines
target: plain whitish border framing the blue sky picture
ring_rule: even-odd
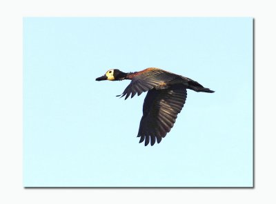
[[[0,3],[0,203],[275,203],[273,1],[3,1]],[[22,17],[38,16],[254,17],[255,189],[23,189]]]

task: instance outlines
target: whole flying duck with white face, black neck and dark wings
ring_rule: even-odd
[[[139,72],[121,72],[119,69],[111,69],[96,81],[121,81],[131,80],[122,94],[125,100],[142,92],[147,92],[143,105],[143,116],[141,117],[137,137],[139,143],[147,146],[160,143],[170,132],[177,114],[184,107],[187,98],[187,89],[195,92],[213,93],[215,91],[204,88],[197,81],[188,77],[174,74],[159,68],[146,68]]]

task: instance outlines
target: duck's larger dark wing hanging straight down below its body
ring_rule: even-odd
[[[187,90],[184,85],[173,85],[164,90],[149,90],[143,105],[138,137],[145,146],[161,142],[184,106]]]

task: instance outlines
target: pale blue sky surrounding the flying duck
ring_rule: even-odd
[[[146,93],[95,81],[157,67],[198,81],[161,143],[139,144]],[[24,18],[24,186],[253,185],[252,18]]]

